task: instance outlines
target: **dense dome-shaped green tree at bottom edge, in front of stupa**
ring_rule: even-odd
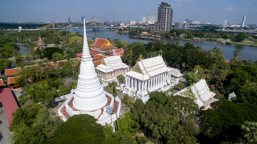
[[[49,143],[104,143],[104,128],[95,121],[87,114],[74,115],[58,127]]]

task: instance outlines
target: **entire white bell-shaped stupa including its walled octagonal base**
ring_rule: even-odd
[[[89,114],[97,119],[98,124],[104,125],[116,120],[114,102],[117,114],[120,113],[121,101],[114,101],[111,94],[104,91],[95,72],[95,67],[89,53],[84,18],[84,43],[80,64],[78,84],[72,96],[58,109],[59,116],[66,121],[78,114]]]

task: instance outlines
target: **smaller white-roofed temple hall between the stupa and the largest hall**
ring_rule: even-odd
[[[103,58],[102,63],[96,67],[97,74],[103,82],[117,80],[118,75],[123,75],[128,70],[129,66],[122,63],[120,55]]]

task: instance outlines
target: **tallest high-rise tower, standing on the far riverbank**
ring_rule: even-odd
[[[173,9],[170,4],[161,2],[158,6],[158,19],[159,32],[169,32],[172,29],[172,21],[173,21]]]

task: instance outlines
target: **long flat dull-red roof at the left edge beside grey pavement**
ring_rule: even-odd
[[[0,89],[0,98],[2,101],[8,125],[10,127],[11,121],[13,120],[12,112],[15,112],[15,110],[18,108],[18,104],[10,88]]]

